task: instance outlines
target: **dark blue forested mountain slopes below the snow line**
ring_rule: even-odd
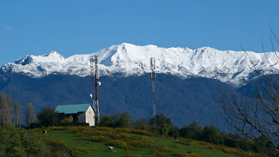
[[[125,78],[101,76],[99,111],[122,113],[127,111],[133,119],[153,116],[152,80],[149,74]],[[225,130],[221,112],[215,100],[223,89],[235,88],[219,80],[193,77],[181,79],[177,76],[157,74],[155,80],[156,111],[172,119],[175,126],[182,127],[193,121],[201,126],[214,124]],[[38,113],[43,106],[91,103],[93,91],[90,76],[48,75],[31,78],[21,74],[1,74],[0,91],[18,100],[25,113],[27,103],[35,106]]]

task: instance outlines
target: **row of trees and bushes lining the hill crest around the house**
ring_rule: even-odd
[[[50,107],[42,107],[36,115],[33,104],[28,103],[25,112],[25,121],[28,128],[46,128],[48,126],[89,126],[86,123],[73,122],[71,119],[59,119],[59,113]],[[184,125],[182,128],[174,126],[170,118],[165,115],[156,115],[157,126],[154,126],[154,118],[140,118],[133,120],[128,112],[105,114],[100,118],[99,126],[112,128],[133,128],[154,132],[164,136],[176,138],[193,139],[225,145],[228,147],[241,148],[244,151],[271,154],[274,152],[266,146],[257,145],[254,141],[246,141],[239,134],[221,132],[214,125],[205,125],[203,128],[198,122]],[[11,123],[19,126],[24,124],[22,109],[17,100],[9,95],[0,93],[0,125]],[[259,137],[260,138],[260,137]],[[269,152],[269,153],[268,153]],[[278,155],[278,154],[277,154]]]

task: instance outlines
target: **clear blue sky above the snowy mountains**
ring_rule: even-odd
[[[279,1],[0,1],[0,65],[57,51],[65,58],[123,42],[270,52]]]

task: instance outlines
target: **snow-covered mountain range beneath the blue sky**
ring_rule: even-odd
[[[269,64],[279,69],[274,53],[247,52],[261,70],[269,69]],[[149,73],[151,57],[155,58],[155,71],[177,75],[181,78],[202,76],[220,79],[226,83],[238,84],[238,78],[250,79],[253,70],[244,51],[219,51],[210,47],[196,50],[190,48],[160,48],[155,45],[136,46],[123,43],[110,46],[98,52],[73,55],[64,58],[52,51],[47,55],[28,55],[14,63],[4,64],[5,73],[24,73],[32,77],[48,74],[90,75],[89,57],[98,56],[100,75],[131,76]],[[266,56],[265,56],[266,55]],[[269,62],[268,62],[269,61]]]

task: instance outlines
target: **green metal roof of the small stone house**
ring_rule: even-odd
[[[78,113],[78,112],[87,111],[90,105],[91,104],[58,105],[55,110],[58,111],[59,113],[64,113],[64,114]]]

